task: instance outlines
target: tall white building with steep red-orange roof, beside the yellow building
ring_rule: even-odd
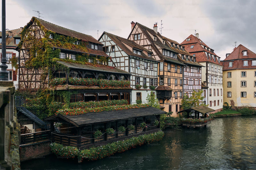
[[[215,111],[220,111],[223,106],[223,87],[222,87],[222,64],[220,57],[214,53],[214,50],[208,47],[201,39],[199,34],[189,35],[181,45],[193,56],[198,63],[203,65],[202,81],[208,86],[207,99],[204,99],[208,107]],[[204,89],[206,90],[206,89]],[[206,93],[206,92],[204,92]]]

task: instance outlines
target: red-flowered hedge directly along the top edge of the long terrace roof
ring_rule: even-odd
[[[60,109],[55,114],[61,115],[82,115],[88,112],[102,112],[109,110],[126,110],[126,109],[134,109],[134,108],[142,108],[149,107],[147,104],[141,105],[117,105],[117,106],[104,106],[104,107],[93,107],[93,108],[68,108],[68,109]]]

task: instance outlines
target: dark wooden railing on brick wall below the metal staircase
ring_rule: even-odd
[[[45,130],[34,133],[26,133],[20,135],[20,144],[32,144],[51,140],[51,130]]]

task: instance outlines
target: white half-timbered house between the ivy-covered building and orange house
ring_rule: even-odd
[[[151,57],[152,51],[134,41],[107,32],[102,33],[99,41],[104,44],[103,49],[111,57],[109,65],[131,73],[132,104],[136,100],[146,103],[147,95],[155,88],[152,86],[157,86],[159,62]]]

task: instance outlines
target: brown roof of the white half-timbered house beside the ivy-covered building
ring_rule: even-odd
[[[132,56],[136,56],[136,57],[140,57],[140,58],[145,58],[145,59],[149,59],[149,60],[153,60],[153,61],[157,61],[156,59],[154,59],[153,57],[148,57],[148,55],[144,54],[143,52],[141,53],[141,55],[138,54],[134,54],[132,50],[130,50],[129,48],[127,48],[127,45],[130,46],[131,48],[137,48],[140,49],[142,51],[146,51],[149,53],[152,53],[152,51],[142,47],[141,45],[137,44],[136,42],[132,41],[132,40],[128,40],[125,39],[123,37],[119,37],[117,35],[111,34],[111,33],[107,33],[104,31],[105,34],[108,35],[108,37],[114,41],[116,43],[116,45],[118,45],[122,50],[124,50],[124,52],[128,55],[132,55]],[[103,33],[103,34],[104,34]],[[103,35],[102,34],[102,35]]]

